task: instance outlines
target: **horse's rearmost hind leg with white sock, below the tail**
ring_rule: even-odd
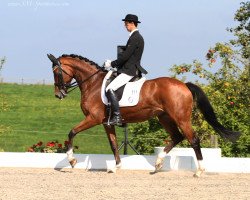
[[[201,174],[205,171],[205,168],[202,165],[203,157],[201,153],[200,147],[200,139],[195,136],[194,131],[192,129],[191,122],[185,122],[180,124],[180,128],[182,129],[185,137],[191,144],[191,147],[194,149],[197,161],[198,161],[198,169],[194,174],[195,177],[200,177]]]

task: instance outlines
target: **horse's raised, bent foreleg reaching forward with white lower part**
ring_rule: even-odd
[[[76,158],[73,156],[73,139],[76,136],[77,133],[84,131],[88,128],[91,128],[98,123],[93,120],[91,116],[87,116],[83,121],[81,121],[77,126],[75,126],[68,134],[68,150],[67,150],[67,157],[69,160],[69,163],[72,168],[77,163]]]

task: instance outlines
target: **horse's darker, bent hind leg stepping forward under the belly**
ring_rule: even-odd
[[[171,141],[166,145],[163,152],[159,153],[155,164],[155,171],[159,171],[162,168],[163,159],[165,158],[167,153],[184,139],[175,121],[171,119],[167,114],[158,116],[158,119],[164,129],[170,134]]]

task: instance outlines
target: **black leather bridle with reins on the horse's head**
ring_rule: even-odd
[[[66,95],[65,93],[70,93],[72,92],[74,89],[76,89],[79,85],[81,85],[82,83],[88,81],[89,79],[91,79],[93,76],[95,76],[97,73],[99,73],[100,71],[102,71],[102,69],[97,70],[95,73],[93,73],[92,75],[90,75],[89,77],[87,77],[86,79],[80,81],[80,82],[76,82],[74,81],[73,83],[65,83],[64,79],[63,79],[63,73],[67,74],[69,77],[71,77],[72,79],[74,78],[73,76],[71,76],[69,73],[67,73],[61,66],[61,63],[58,61],[57,65],[53,65],[52,67],[53,71],[55,71],[56,69],[58,69],[58,83],[54,83],[55,86],[57,86],[59,88],[59,90],[61,92],[64,93],[64,95]],[[68,91],[68,89],[70,89]],[[63,91],[62,91],[63,90]]]

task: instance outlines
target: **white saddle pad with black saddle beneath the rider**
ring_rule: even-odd
[[[116,78],[116,73],[109,71],[103,79],[101,98],[105,105],[108,105],[106,87]],[[134,77],[127,84],[115,91],[120,107],[135,106],[139,102],[140,90],[146,78]]]

